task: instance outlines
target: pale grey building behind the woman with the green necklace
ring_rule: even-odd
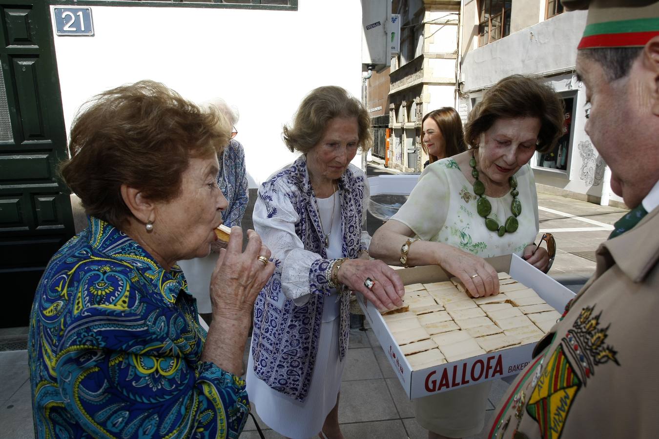
[[[467,112],[483,91],[511,74],[538,76],[565,103],[565,132],[554,151],[531,159],[541,192],[623,206],[610,192],[606,165],[584,131],[586,93],[577,81],[577,45],[585,11],[562,13],[558,1],[463,0],[459,110]]]

